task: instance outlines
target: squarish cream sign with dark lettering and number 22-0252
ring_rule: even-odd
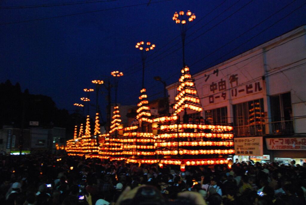
[[[263,137],[242,137],[234,139],[236,155],[263,156]]]

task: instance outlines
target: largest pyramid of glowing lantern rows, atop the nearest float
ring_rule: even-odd
[[[201,107],[194,81],[189,72],[189,67],[183,67],[181,73],[179,85],[177,86],[178,93],[173,105],[174,114],[178,114],[185,109],[201,112],[203,108]]]

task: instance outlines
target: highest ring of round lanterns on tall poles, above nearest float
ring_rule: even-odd
[[[186,31],[188,27],[188,23],[193,21],[196,18],[194,13],[191,13],[190,10],[186,12],[186,16],[184,16],[184,11],[180,11],[179,13],[175,12],[172,20],[175,21],[180,27],[181,37],[182,37],[182,44],[183,44],[183,67],[185,67],[185,38],[186,38]]]

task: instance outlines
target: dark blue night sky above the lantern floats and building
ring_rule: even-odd
[[[63,5],[66,2],[70,5]],[[185,47],[192,74],[306,24],[304,0],[84,2],[1,1],[0,82],[19,82],[22,90],[50,96],[58,108],[72,112],[77,108],[73,104],[83,103],[80,97],[87,96],[83,89],[94,88],[92,80],[114,80],[110,72],[119,70],[124,76],[119,79],[118,103],[135,105],[142,83],[137,42],[156,44],[146,62],[149,99],[163,96],[163,85],[154,76],[167,85],[180,76],[182,49],[179,27],[172,20],[175,11],[196,15],[188,25]],[[102,108],[105,96],[99,96]]]

